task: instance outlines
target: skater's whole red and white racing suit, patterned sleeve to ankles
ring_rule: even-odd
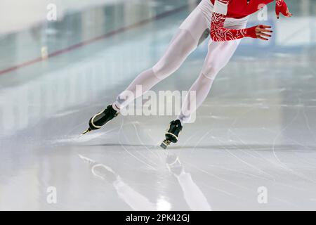
[[[164,56],[152,68],[140,73],[136,79],[117,96],[115,109],[124,108],[135,98],[141,96],[180,68],[180,65],[197,48],[199,39],[206,29],[211,31],[208,53],[202,72],[190,91],[195,91],[195,104],[190,97],[183,102],[178,119],[183,123],[200,106],[209,94],[211,84],[218,72],[225,67],[235,53],[240,39],[256,38],[256,27],[246,28],[249,15],[261,9],[273,0],[202,0],[192,13],[180,25],[171,40]],[[276,11],[285,14],[287,5],[284,0],[276,0]],[[143,92],[136,92],[141,85]],[[188,96],[190,96],[190,91]],[[131,93],[133,95],[131,95]]]

